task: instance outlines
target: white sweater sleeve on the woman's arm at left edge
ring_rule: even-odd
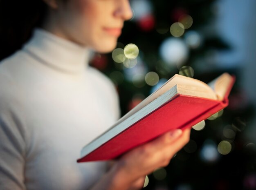
[[[26,130],[20,95],[14,83],[0,74],[0,190],[26,189]]]

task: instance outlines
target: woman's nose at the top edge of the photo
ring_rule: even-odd
[[[115,16],[121,17],[123,20],[130,20],[133,16],[129,0],[117,0],[117,9]]]

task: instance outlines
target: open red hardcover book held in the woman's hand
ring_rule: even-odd
[[[114,159],[175,128],[191,128],[228,105],[235,77],[224,73],[205,84],[174,75],[81,150],[78,162]]]

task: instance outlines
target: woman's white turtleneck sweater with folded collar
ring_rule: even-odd
[[[76,163],[119,118],[89,50],[43,29],[0,63],[0,190],[85,190],[106,162]]]

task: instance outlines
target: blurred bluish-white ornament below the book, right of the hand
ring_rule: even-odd
[[[217,145],[212,141],[207,139],[204,141],[202,149],[200,151],[200,158],[204,162],[215,162],[218,159]]]

